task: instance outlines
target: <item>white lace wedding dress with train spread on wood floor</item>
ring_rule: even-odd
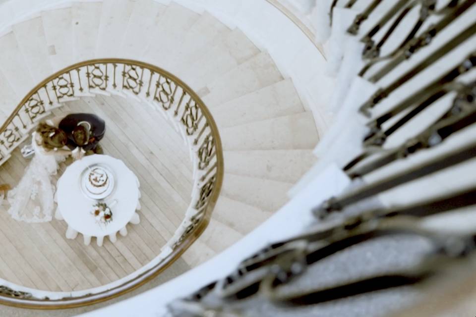
[[[58,171],[58,163],[66,157],[47,153],[37,144],[36,132],[32,137],[35,156],[18,185],[8,193],[8,213],[16,220],[46,222],[53,219],[55,209],[55,186],[51,178]]]

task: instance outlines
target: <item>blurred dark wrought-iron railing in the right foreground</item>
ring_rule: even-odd
[[[329,2],[332,18],[335,7],[349,9],[359,0]],[[342,168],[336,174],[338,177],[346,175],[349,183],[355,181],[334,197],[316,201],[316,206],[308,211],[314,214],[315,222],[293,238],[272,241],[237,263],[228,275],[210,280],[188,296],[170,302],[169,314],[165,316],[338,316],[344,310],[352,315],[353,307],[357,307],[358,315],[369,303],[373,311],[366,308],[366,315],[390,316],[388,305],[377,302],[395,288],[402,293],[397,291],[399,299],[392,301],[398,301],[395,307],[401,308],[414,305],[416,293],[430,291],[428,297],[434,297],[436,292],[433,294],[431,286],[436,285],[434,289],[441,291],[441,279],[455,279],[453,272],[464,272],[459,275],[460,281],[473,280],[475,222],[461,211],[471,211],[472,215],[476,211],[476,183],[464,179],[466,174],[473,175],[476,159],[476,0],[361,3],[366,6],[356,11],[353,22],[334,20],[342,23],[339,27],[347,28],[345,39],[342,34],[333,34],[334,40],[343,41],[338,50],[346,48],[341,73],[336,76],[335,95],[349,95],[335,99],[342,101],[335,105],[340,110],[336,121],[339,124],[331,127],[335,130],[329,131],[317,147],[318,154],[324,156],[323,162],[317,163],[317,170],[332,162],[332,166]],[[402,22],[414,8],[419,10],[418,16]],[[371,13],[378,10],[379,15],[372,19]],[[432,16],[439,20],[427,23]],[[455,24],[460,29],[451,30]],[[395,31],[397,27],[399,32]],[[336,30],[339,32],[339,28]],[[443,32],[446,34],[438,36]],[[431,49],[425,52],[425,47]],[[455,52],[460,56],[450,56]],[[335,52],[329,55],[332,53]],[[397,69],[404,61],[409,67]],[[427,69],[432,73],[427,72],[426,78],[418,77]],[[359,100],[362,96],[368,98]],[[362,124],[364,121],[366,125]],[[327,186],[328,178],[320,184],[312,182],[313,190],[317,193]],[[306,196],[311,193],[309,187],[305,195],[295,199],[310,197]],[[388,204],[392,194],[396,198]],[[309,201],[291,203],[288,208],[305,206]],[[281,218],[283,223],[290,214],[287,211]],[[302,215],[306,211],[295,210],[293,217],[299,217],[299,212]],[[440,218],[437,223],[432,222],[435,215],[451,217]],[[277,219],[273,222],[275,226]],[[385,237],[414,240],[408,244],[404,239],[398,240],[389,252],[385,241],[377,240]],[[415,243],[419,239],[427,243],[424,251]],[[365,264],[357,264],[356,249],[362,257],[365,254]],[[411,256],[416,261],[400,267],[399,260],[416,250],[420,252],[418,256]],[[343,256],[344,252],[347,255]],[[390,253],[394,258],[385,262],[384,258],[392,257]],[[319,264],[320,268],[316,268]],[[367,269],[369,265],[373,267],[371,272]],[[324,270],[324,266],[332,269]],[[341,273],[346,275],[349,271],[352,274],[343,280]],[[335,278],[331,281],[329,275],[333,274]],[[405,295],[402,286],[407,291],[416,286],[418,289]],[[455,283],[451,287],[456,291],[457,286]],[[385,296],[378,297],[382,291],[386,291]],[[455,294],[447,291],[450,293]],[[438,292],[436,298],[442,295],[446,294]],[[452,297],[453,303],[463,303],[461,294]],[[446,311],[447,307],[444,308]],[[421,311],[415,311],[417,314],[412,316],[423,316]],[[399,316],[409,315],[404,312]]]

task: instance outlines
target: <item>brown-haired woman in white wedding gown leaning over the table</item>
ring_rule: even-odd
[[[16,220],[45,222],[53,218],[55,186],[51,176],[71,151],[65,148],[66,133],[49,123],[41,122],[33,132],[31,145],[35,156],[18,185],[8,193],[8,213]]]

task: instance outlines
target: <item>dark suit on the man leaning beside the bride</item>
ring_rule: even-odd
[[[68,143],[66,146],[71,150],[74,150],[79,146],[74,142],[72,132],[78,123],[82,121],[86,121],[91,124],[89,139],[94,137],[94,141],[80,147],[83,148],[84,151],[94,150],[98,145],[99,140],[104,137],[104,133],[106,132],[106,123],[103,119],[92,113],[71,113],[60,121],[59,128],[66,132],[68,136]]]

